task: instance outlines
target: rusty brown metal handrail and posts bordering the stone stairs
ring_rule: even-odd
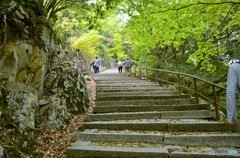
[[[187,91],[192,91],[194,92],[195,95],[195,99],[196,99],[196,103],[199,104],[199,101],[201,98],[204,98],[204,100],[208,100],[211,101],[214,105],[214,109],[215,109],[215,113],[216,113],[216,118],[217,120],[220,120],[220,114],[219,114],[219,107],[222,107],[219,104],[219,98],[220,98],[220,93],[218,92],[222,92],[225,91],[226,92],[226,88],[222,87],[218,84],[215,84],[213,82],[204,80],[202,78],[199,78],[197,76],[191,75],[191,74],[187,74],[187,73],[181,73],[181,72],[175,72],[175,71],[169,71],[169,70],[163,70],[163,69],[152,69],[152,68],[144,68],[144,67],[136,67],[134,66],[134,73],[131,72],[131,74],[133,74],[136,77],[139,78],[146,78],[147,80],[153,80],[155,82],[164,82],[165,85],[168,87],[169,84],[171,85],[177,85],[178,86],[178,94],[181,95],[182,94],[182,89],[185,89]],[[145,71],[144,71],[145,70]],[[149,71],[153,71],[154,73],[152,74],[153,77],[150,77],[150,73]],[[143,72],[145,72],[145,74],[143,74]],[[159,78],[159,75],[161,74],[165,74],[165,78]],[[172,82],[169,79],[169,74],[172,75],[177,75],[177,77],[175,77],[175,79],[177,79],[177,83],[176,82]],[[184,86],[181,80],[181,77],[190,77],[193,79],[193,84],[194,84],[194,89],[191,89],[190,87]],[[199,92],[199,87],[197,85],[197,83],[201,81],[203,83],[206,83],[208,86],[212,87],[212,96],[213,96],[213,100],[210,97],[207,97],[205,95],[203,95],[202,93]],[[217,89],[219,90],[217,92]]]

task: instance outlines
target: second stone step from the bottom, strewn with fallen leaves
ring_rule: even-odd
[[[240,147],[240,133],[131,133],[106,131],[101,133],[78,132],[78,141],[153,143],[164,145]]]

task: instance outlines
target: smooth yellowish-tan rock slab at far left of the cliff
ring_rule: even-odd
[[[46,54],[29,41],[7,42],[1,51],[1,107],[23,129],[35,126],[46,69]]]

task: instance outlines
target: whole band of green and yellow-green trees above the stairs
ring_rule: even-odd
[[[212,80],[216,82],[226,79],[227,63],[239,56],[238,0],[98,0],[84,4],[64,11],[57,25],[65,25],[59,30],[65,31],[66,40],[74,37],[79,39],[75,42],[83,42],[72,44],[75,49],[86,51],[91,47],[87,42],[100,39],[95,52],[85,52],[90,56],[101,52],[114,59],[130,56],[141,66],[199,70],[212,77],[215,74]],[[92,37],[92,30],[99,37]],[[219,72],[225,73],[218,76]]]

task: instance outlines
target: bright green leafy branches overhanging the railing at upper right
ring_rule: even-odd
[[[140,64],[188,62],[206,73],[218,73],[222,72],[219,65],[239,56],[240,3],[236,0],[138,0],[125,1],[122,7],[131,16],[124,31]],[[153,61],[143,62],[141,57],[148,56],[154,56],[149,58]]]

